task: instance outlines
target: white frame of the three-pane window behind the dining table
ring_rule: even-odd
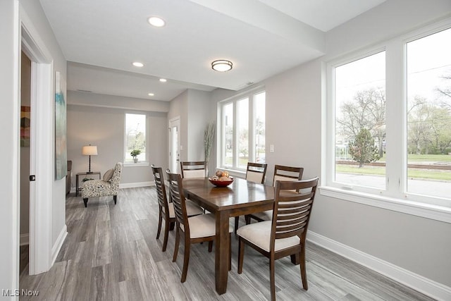
[[[255,87],[252,90],[247,90],[245,92],[235,94],[233,97],[228,97],[226,99],[221,100],[218,102],[218,113],[217,113],[217,119],[218,119],[218,127],[216,129],[216,134],[218,137],[217,142],[217,155],[216,155],[216,162],[217,162],[217,168],[228,170],[228,171],[235,171],[236,173],[245,173],[246,167],[239,167],[239,137],[237,133],[237,124],[238,124],[238,118],[237,118],[237,104],[243,99],[248,99],[248,161],[254,162],[256,160],[255,158],[255,116],[256,116],[256,107],[254,102],[254,96],[257,94],[266,93],[264,86]],[[233,164],[232,166],[226,166],[223,162],[224,158],[224,152],[225,152],[225,145],[224,145],[224,136],[226,135],[226,129],[224,127],[224,114],[223,114],[223,107],[233,104]],[[266,97],[265,97],[265,114],[266,114]],[[266,118],[265,118],[265,128],[266,128]]]

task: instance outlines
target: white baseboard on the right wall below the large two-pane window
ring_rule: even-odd
[[[412,271],[402,269],[400,266],[385,262],[382,259],[373,257],[370,254],[366,254],[347,245],[343,245],[341,242],[331,240],[318,233],[309,231],[307,240],[334,253],[340,254],[353,262],[362,264],[397,282],[407,285],[414,290],[418,290],[436,300],[451,300],[451,288],[447,285],[432,281],[424,276],[412,273]]]

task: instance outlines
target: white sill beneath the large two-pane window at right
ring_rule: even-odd
[[[364,192],[342,190],[330,186],[319,188],[319,194],[326,197],[334,197],[348,202],[356,202],[368,206],[402,212],[414,216],[421,216],[426,219],[451,223],[451,208],[442,207],[421,202],[406,201],[391,197],[381,197]]]

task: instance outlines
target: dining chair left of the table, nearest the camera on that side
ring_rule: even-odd
[[[201,214],[188,217],[182,177],[178,173],[170,173],[169,171],[166,171],[166,173],[168,174],[169,191],[171,193],[171,199],[173,200],[176,219],[175,247],[172,261],[175,262],[177,260],[180,237],[182,237],[185,241],[185,252],[183,257],[182,278],[180,281],[185,282],[188,272],[188,263],[190,262],[191,244],[197,242],[209,242],[209,252],[211,252],[213,241],[216,238],[216,220],[214,214]],[[230,233],[232,232],[233,228],[229,226],[229,271],[232,266],[230,258]]]

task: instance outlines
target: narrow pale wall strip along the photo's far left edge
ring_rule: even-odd
[[[0,1],[0,139],[1,148],[0,189],[0,287],[16,289],[18,279],[19,244],[19,15],[18,1]],[[4,300],[13,300],[13,297]]]

